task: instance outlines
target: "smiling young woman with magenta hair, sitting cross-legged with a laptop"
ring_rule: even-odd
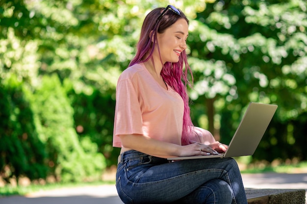
[[[166,159],[227,149],[191,122],[188,23],[171,5],[151,11],[118,80],[113,146],[122,148],[116,187],[125,204],[247,204],[234,159]]]

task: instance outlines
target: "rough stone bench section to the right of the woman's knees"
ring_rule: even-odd
[[[304,189],[246,188],[248,204],[306,204]]]

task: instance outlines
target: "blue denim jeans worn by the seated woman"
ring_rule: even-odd
[[[125,204],[247,204],[231,158],[170,162],[129,150],[121,155],[116,188]]]

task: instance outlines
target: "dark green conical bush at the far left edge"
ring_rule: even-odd
[[[0,176],[7,182],[20,176],[30,180],[47,176],[47,154],[25,91],[15,75],[0,81]]]

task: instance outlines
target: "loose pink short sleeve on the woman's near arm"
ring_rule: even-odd
[[[122,146],[119,135],[143,135],[142,113],[137,90],[137,84],[133,84],[132,79],[120,77],[116,87],[113,132],[113,146],[115,147]]]

